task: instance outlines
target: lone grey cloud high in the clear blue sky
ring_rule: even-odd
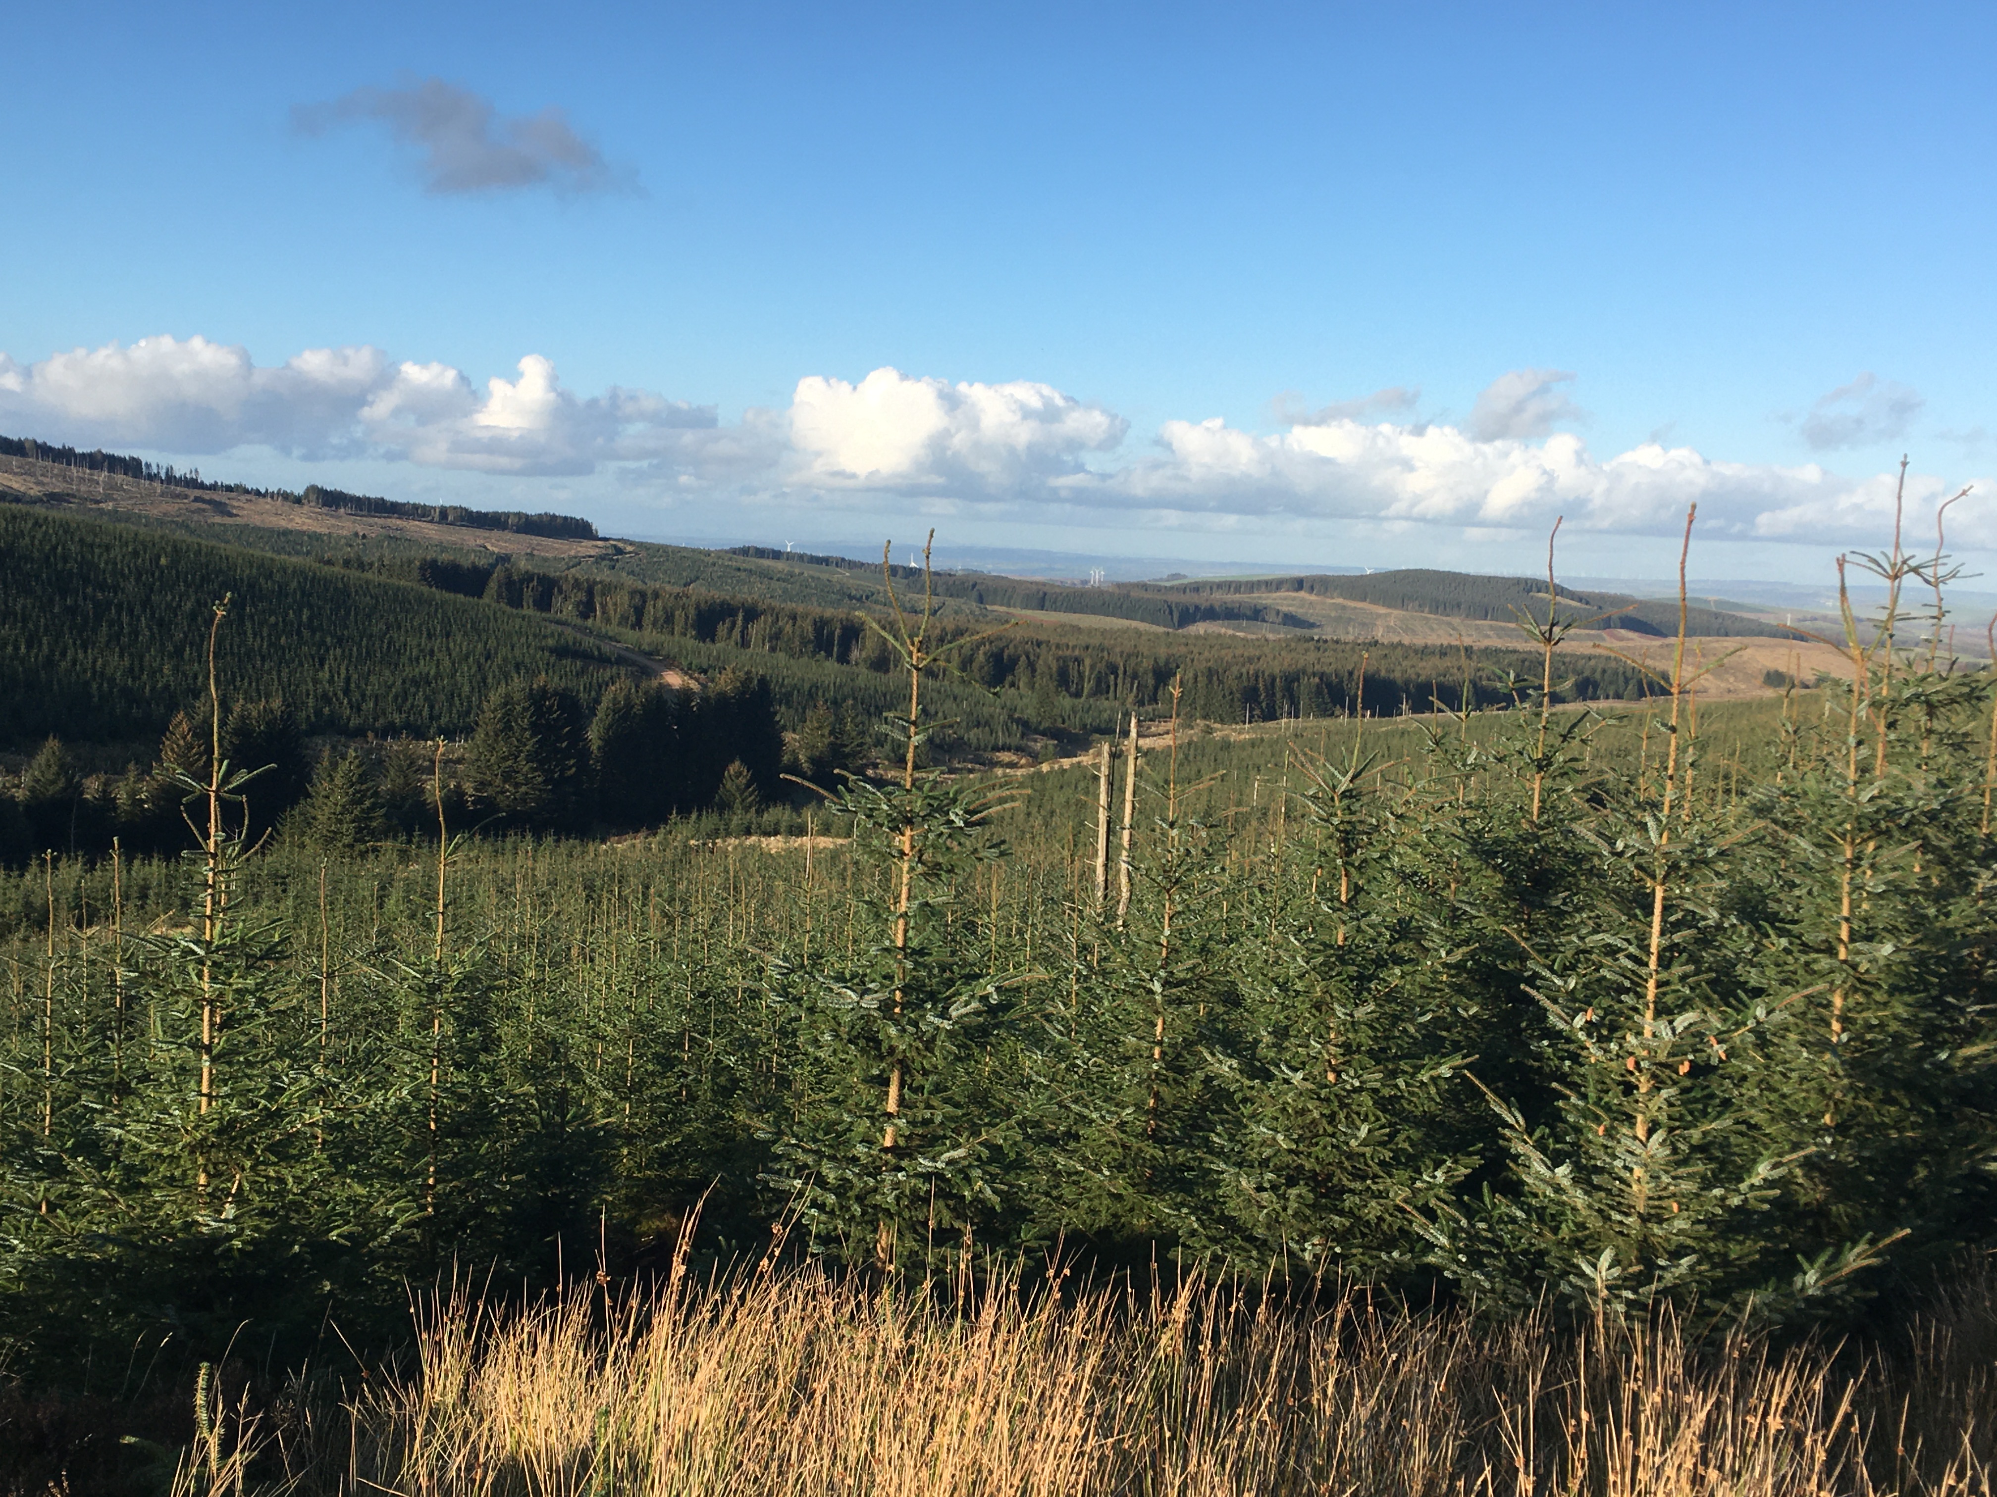
[[[501,116],[493,102],[441,78],[401,88],[355,88],[328,104],[302,104],[292,122],[308,136],[335,126],[375,122],[403,146],[423,152],[423,192],[473,194],[519,188],[613,192],[629,188],[603,154],[575,134],[555,106]]]

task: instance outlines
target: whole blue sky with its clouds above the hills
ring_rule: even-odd
[[[1660,575],[1697,499],[1777,579],[1909,451],[1989,557],[1993,62],[1989,6],[18,8],[0,431],[843,547],[1564,513]]]

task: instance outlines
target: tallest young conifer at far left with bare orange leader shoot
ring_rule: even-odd
[[[30,1269],[14,1281],[18,1317],[50,1335],[90,1325],[130,1341],[172,1327],[218,1355],[246,1319],[274,1335],[310,1327],[332,1285],[369,1269],[393,1220],[355,1168],[371,1122],[365,1068],[339,1078],[328,1108],[324,1052],[302,1044],[318,1008],[284,960],[282,920],[248,902],[246,802],[260,774],[222,743],[228,617],[224,599],[208,627],[206,774],[176,772],[198,842],[182,908],[146,936],[118,934],[96,976],[76,964],[72,1012],[88,1044],[72,1106],[50,1110],[46,1210],[26,1222],[34,1240],[16,1263]]]

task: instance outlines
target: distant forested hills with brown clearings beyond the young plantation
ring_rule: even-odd
[[[164,477],[0,453],[0,567],[16,583],[0,599],[0,693],[18,703],[0,745],[156,733],[200,693],[202,625],[224,591],[238,597],[228,689],[282,695],[324,733],[461,735],[503,681],[549,675],[593,699],[641,657],[763,677],[785,727],[819,705],[875,717],[897,689],[865,617],[885,617],[891,585],[905,607],[923,587],[907,565],[883,577],[835,555],[497,531],[391,501],[332,511]],[[1018,623],[939,679],[949,752],[1104,733],[1132,707],[1168,711],[1174,679],[1182,711],[1214,723],[1336,717],[1362,697],[1370,713],[1500,705],[1508,679],[1540,673],[1508,625],[1548,607],[1544,583],[1442,571],[1096,587],[961,571],[935,589],[947,633]],[[1677,627],[1675,603],[1562,589],[1556,607],[1588,625],[1584,639]],[[1775,651],[1729,665],[1747,681],[1727,691],[1761,691],[1771,667],[1807,677],[1779,625],[1711,607],[1689,623]],[[1576,645],[1556,669],[1566,699],[1656,691],[1632,663]]]

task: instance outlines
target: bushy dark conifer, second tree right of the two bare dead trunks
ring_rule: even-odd
[[[1492,1028],[1462,984],[1450,908],[1446,778],[1392,778],[1364,721],[1338,760],[1292,752],[1288,868],[1266,860],[1280,914],[1242,940],[1228,1042],[1216,1048],[1234,1126],[1214,1134],[1224,1236],[1236,1259],[1406,1281],[1422,1224],[1456,1214],[1484,1162],[1462,1080]],[[1290,824],[1282,816],[1280,826]]]

